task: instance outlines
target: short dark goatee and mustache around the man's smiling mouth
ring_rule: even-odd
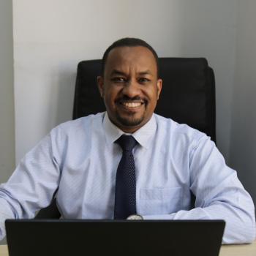
[[[148,99],[146,98],[140,98],[138,96],[135,96],[133,98],[129,98],[127,97],[127,95],[124,95],[123,97],[120,97],[118,99],[116,99],[116,104],[119,104],[118,102],[120,102],[121,100],[143,100],[144,102],[144,105],[145,105],[145,108],[144,108],[144,111],[143,113],[141,114],[140,117],[135,117],[136,115],[136,112],[133,112],[133,111],[130,111],[128,113],[129,117],[124,117],[124,116],[121,116],[119,113],[118,113],[118,110],[116,109],[116,118],[118,119],[118,121],[126,126],[126,127],[136,127],[138,126],[145,118],[145,112],[146,112],[146,108],[147,108],[147,105],[148,105]]]

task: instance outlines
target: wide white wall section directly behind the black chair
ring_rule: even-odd
[[[217,143],[228,158],[234,0],[13,0],[16,161],[72,118],[76,66],[121,37],[160,57],[206,57],[217,80]],[[165,81],[163,86],[165,86]]]

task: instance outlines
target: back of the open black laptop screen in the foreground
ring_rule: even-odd
[[[7,219],[10,256],[217,256],[224,220]]]

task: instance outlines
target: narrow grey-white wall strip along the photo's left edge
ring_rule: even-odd
[[[12,1],[0,1],[0,183],[15,168]]]

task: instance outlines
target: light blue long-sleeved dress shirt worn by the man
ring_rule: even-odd
[[[124,132],[98,113],[54,128],[0,186],[0,236],[5,219],[33,218],[57,203],[64,219],[113,219],[116,170]],[[223,243],[255,238],[252,198],[202,132],[153,114],[132,134],[136,206],[144,219],[225,219]],[[190,190],[196,196],[191,210]],[[190,211],[189,211],[190,210]]]

